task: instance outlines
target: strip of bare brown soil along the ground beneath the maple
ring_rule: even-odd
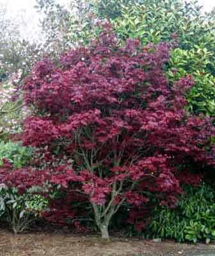
[[[215,245],[178,244],[140,239],[78,236],[63,232],[29,232],[15,235],[0,230],[1,256],[215,256]]]

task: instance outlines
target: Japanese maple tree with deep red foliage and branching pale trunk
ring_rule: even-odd
[[[138,40],[122,46],[107,25],[92,44],[72,49],[59,63],[38,62],[24,84],[34,114],[24,122],[22,140],[45,152],[47,164],[25,171],[31,179],[23,176],[21,187],[35,180],[67,197],[81,195],[108,238],[123,204],[138,208],[159,195],[172,205],[181,182],[200,182],[203,168],[215,163],[214,127],[186,111],[192,77],[170,86],[164,76],[171,47],[141,47]]]

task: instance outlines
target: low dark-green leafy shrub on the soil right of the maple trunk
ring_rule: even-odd
[[[165,206],[155,208],[146,237],[175,239],[179,242],[215,239],[214,188],[203,184],[200,188],[186,186],[175,209]]]

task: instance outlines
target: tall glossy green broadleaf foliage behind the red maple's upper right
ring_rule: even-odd
[[[195,86],[187,100],[189,111],[214,117],[215,113],[215,19],[203,14],[198,1],[92,0],[80,1],[70,17],[71,40],[87,44],[97,35],[92,20],[109,20],[118,38],[138,38],[141,44],[177,41],[166,68],[170,81],[192,74]],[[94,16],[92,15],[94,13]],[[172,70],[177,68],[177,72]]]

